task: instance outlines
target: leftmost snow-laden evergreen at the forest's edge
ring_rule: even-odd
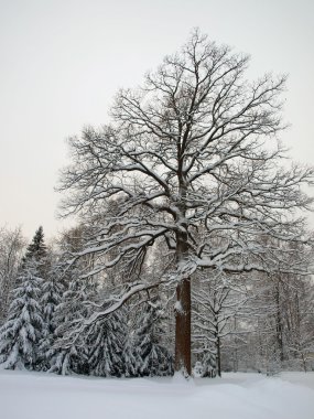
[[[0,363],[8,369],[33,369],[39,356],[43,318],[39,304],[41,279],[36,264],[30,259],[13,290],[7,322],[0,329]]]

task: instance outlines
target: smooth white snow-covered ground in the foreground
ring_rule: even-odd
[[[314,373],[101,379],[0,369],[1,419],[313,419]]]

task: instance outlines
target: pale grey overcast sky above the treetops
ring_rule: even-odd
[[[250,77],[289,74],[282,139],[314,163],[313,0],[0,0],[0,226],[61,230],[65,139],[108,121],[117,89],[141,83],[195,26],[249,53]]]

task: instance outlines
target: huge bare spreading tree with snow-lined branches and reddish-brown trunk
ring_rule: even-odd
[[[280,164],[285,78],[264,75],[250,83],[247,65],[247,56],[194,31],[142,87],[117,94],[111,125],[69,139],[72,164],[61,178],[59,190],[69,192],[64,214],[101,219],[75,255],[94,255],[93,270],[83,275],[119,266],[129,278],[112,305],[87,323],[134,293],[176,283],[175,369],[186,374],[193,272],[282,269],[280,243],[304,240],[295,211],[312,202],[300,185],[312,181],[313,170]],[[263,236],[275,241],[263,243]],[[144,280],[141,266],[161,241],[170,269]]]

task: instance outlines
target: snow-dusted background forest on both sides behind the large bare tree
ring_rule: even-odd
[[[42,227],[28,246],[20,229],[0,230],[0,362],[6,368],[56,374],[172,375],[173,313],[180,309],[174,286],[143,291],[115,313],[91,322],[112,302],[117,289],[128,291],[119,271],[82,277],[93,259],[71,259],[91,230],[83,225],[72,228],[51,246],[45,245]],[[300,262],[293,255],[290,262]],[[142,275],[150,279],[164,265],[160,247]],[[194,276],[192,293],[195,376],[313,370],[310,276],[235,277],[204,269]]]

